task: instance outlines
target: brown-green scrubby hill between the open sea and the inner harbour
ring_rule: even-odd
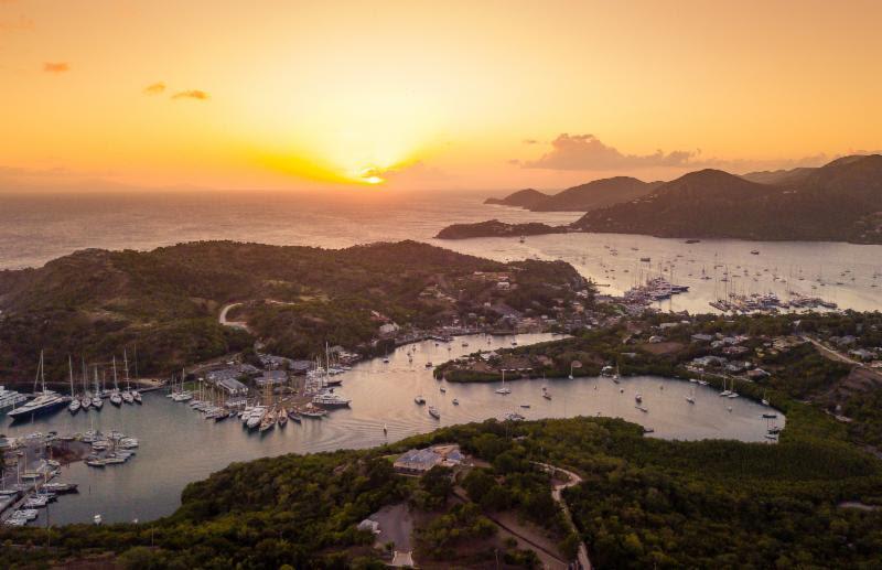
[[[510,276],[510,290],[476,271]],[[311,357],[325,342],[378,349],[384,320],[431,327],[472,312],[492,324],[498,315],[487,301],[539,310],[529,300],[548,297],[537,290],[546,282],[563,298],[581,287],[562,262],[506,265],[415,241],[338,250],[233,241],[84,250],[40,269],[0,271],[0,383],[30,385],[41,348],[50,380],[66,377],[68,354],[105,362],[137,344],[140,372],[163,374],[243,349],[255,338],[217,322],[233,301],[246,303],[236,319],[254,319],[250,329],[268,349]]]

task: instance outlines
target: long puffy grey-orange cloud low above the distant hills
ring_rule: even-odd
[[[623,168],[685,166],[698,151],[658,150],[652,154],[625,154],[601,142],[593,135],[560,135],[551,141],[551,150],[538,160],[521,161],[525,169],[614,170]]]

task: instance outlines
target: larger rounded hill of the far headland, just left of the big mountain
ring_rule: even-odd
[[[548,196],[529,209],[534,212],[589,212],[646,196],[662,182],[644,182],[631,176],[615,176],[580,184]]]

